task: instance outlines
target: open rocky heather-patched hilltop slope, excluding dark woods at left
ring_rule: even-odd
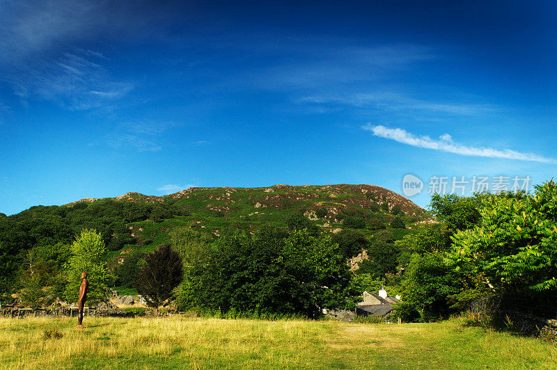
[[[362,218],[375,215],[389,223],[393,218],[389,211],[395,205],[400,207],[407,221],[414,222],[425,217],[423,209],[407,198],[374,185],[194,187],[162,197],[132,192],[102,200],[159,204],[162,208],[172,209],[170,212],[175,215],[166,218],[166,222],[155,215],[129,225],[132,237],[154,241],[155,245],[162,243],[166,239],[166,232],[175,226],[194,227],[217,236],[227,227],[253,232],[262,224],[284,226],[285,220],[293,212],[303,213],[328,231],[341,229],[343,216],[350,214]],[[100,200],[86,198],[66,206],[74,207],[79,203],[98,201]],[[155,209],[156,207],[155,205]],[[322,210],[321,214],[318,210]],[[324,211],[327,214],[322,216]],[[162,218],[165,218],[164,215]]]

